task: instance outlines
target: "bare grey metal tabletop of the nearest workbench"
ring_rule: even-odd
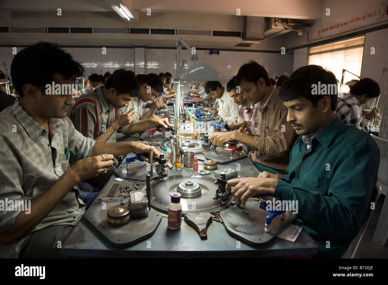
[[[128,154],[128,156],[131,155],[133,154]],[[203,155],[198,155],[198,157],[203,157]],[[198,162],[199,169],[201,169],[203,162]],[[238,168],[237,163],[240,164]],[[243,177],[258,175],[258,170],[247,158],[230,164],[218,165],[218,169],[224,167],[237,168],[238,175]],[[199,175],[191,168],[182,167],[182,171],[169,169],[168,176],[185,174]],[[214,178],[213,173],[208,176]],[[115,178],[117,178],[115,175],[111,177],[96,199],[106,196],[109,185]],[[100,205],[92,204],[90,207],[100,207]],[[151,211],[156,210],[151,209]],[[201,240],[197,231],[183,220],[180,229],[170,230],[167,227],[167,218],[163,216],[158,229],[151,237],[129,247],[120,248],[107,242],[83,217],[62,244],[61,254],[88,257],[269,257],[317,254],[318,252],[314,240],[304,229],[294,243],[276,237],[260,246],[240,242],[227,233],[223,224],[216,221],[212,221],[208,226],[207,235],[207,240]]]

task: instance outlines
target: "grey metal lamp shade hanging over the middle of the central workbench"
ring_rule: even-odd
[[[178,75],[178,79],[185,82],[221,81],[220,74],[210,65],[200,62]]]

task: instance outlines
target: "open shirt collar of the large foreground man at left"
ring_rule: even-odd
[[[16,120],[21,124],[21,126],[26,131],[27,135],[37,143],[40,136],[47,135],[47,131],[36,121],[24,111],[23,107],[19,103],[19,98],[16,98],[16,101],[12,107],[12,112]],[[60,128],[60,121],[57,118],[49,119],[49,130],[54,135],[57,133],[58,128]]]

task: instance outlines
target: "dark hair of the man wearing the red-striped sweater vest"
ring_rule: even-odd
[[[139,95],[139,83],[132,70],[125,70],[124,68],[115,70],[105,82],[105,88],[112,87],[116,89],[116,95],[123,93],[129,93],[133,97]]]

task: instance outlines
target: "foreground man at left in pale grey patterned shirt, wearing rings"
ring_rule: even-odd
[[[98,143],[74,129],[66,116],[73,94],[61,88],[48,94],[47,85],[71,86],[83,73],[53,43],[24,48],[12,61],[20,97],[0,113],[0,257],[59,257],[58,242],[85,212],[74,185],[106,171],[113,157],[159,155],[142,143]],[[70,168],[69,155],[78,159]]]

